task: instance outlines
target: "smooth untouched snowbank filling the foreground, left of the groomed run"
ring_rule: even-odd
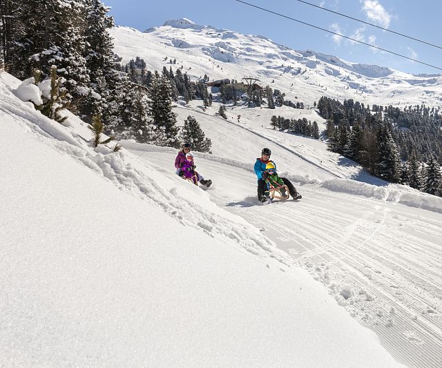
[[[399,367],[174,153],[95,151],[17,85],[0,74],[1,366]]]

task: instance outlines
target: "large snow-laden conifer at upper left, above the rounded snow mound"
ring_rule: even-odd
[[[66,97],[77,105],[87,95],[89,82],[83,56],[82,1],[21,1],[15,17],[23,24],[23,32],[11,50],[12,74],[21,79],[34,69],[50,75],[51,66],[57,65],[58,74],[66,79]]]

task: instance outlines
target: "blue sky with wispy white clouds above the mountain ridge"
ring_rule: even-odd
[[[234,0],[102,0],[111,6],[115,23],[145,30],[167,19],[186,17],[195,23],[265,35],[296,50],[315,50],[347,61],[389,66],[412,73],[442,73],[413,61],[336,37],[289,19],[251,8]],[[392,50],[442,68],[442,49],[340,17],[297,0],[244,0],[289,17],[334,30],[348,37]],[[442,1],[433,0],[306,0],[318,6],[374,23],[442,47]],[[136,55],[134,55],[135,57]]]

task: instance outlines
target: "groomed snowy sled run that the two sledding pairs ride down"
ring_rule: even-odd
[[[147,165],[153,161],[175,175],[176,151],[122,143]],[[398,361],[441,367],[441,200],[425,196],[436,209],[426,211],[416,207],[419,193],[337,179],[333,191],[329,180],[296,184],[299,202],[262,206],[253,162],[197,153],[196,164],[214,182],[211,200],[262,229]],[[401,196],[411,206],[396,202]]]

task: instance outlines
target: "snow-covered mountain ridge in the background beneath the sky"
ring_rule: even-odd
[[[286,93],[286,99],[313,105],[325,95],[364,104],[438,106],[441,75],[416,76],[376,65],[356,64],[312,50],[292,50],[261,35],[200,26],[189,19],[169,20],[140,32],[116,27],[115,52],[123,61],[139,56],[148,69],[183,68],[193,79],[256,77],[262,86]]]

